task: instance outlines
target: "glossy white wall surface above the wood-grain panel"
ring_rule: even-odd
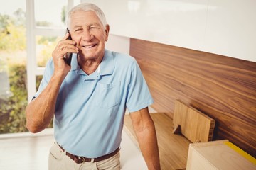
[[[256,62],[255,0],[87,1],[110,33]]]

